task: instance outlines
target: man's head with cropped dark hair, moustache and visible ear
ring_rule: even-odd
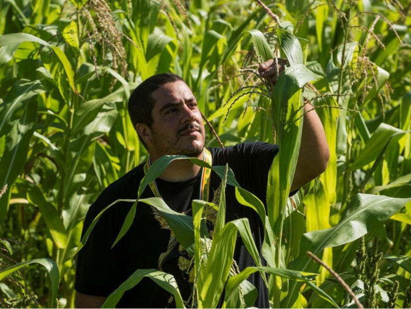
[[[131,94],[128,111],[152,157],[197,157],[203,151],[201,113],[193,92],[179,76],[163,73],[145,80]]]

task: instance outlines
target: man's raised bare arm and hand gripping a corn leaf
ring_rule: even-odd
[[[284,71],[286,62],[286,59],[278,58],[279,75]],[[269,79],[273,84],[277,82],[277,69],[273,59],[261,63],[258,71],[262,78]],[[311,104],[304,106],[305,115],[300,153],[293,183],[291,184],[291,192],[323,173],[328,164],[330,152],[324,128],[317,113],[312,108]]]

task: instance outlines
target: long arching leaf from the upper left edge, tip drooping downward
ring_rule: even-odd
[[[11,33],[11,34],[0,36],[0,47],[8,45],[8,44],[16,44],[16,43],[22,43],[22,42],[36,42],[36,43],[52,48],[55,54],[57,55],[58,59],[60,60],[61,64],[63,65],[64,71],[66,73],[66,76],[67,76],[67,79],[68,79],[68,82],[71,88],[73,89],[74,93],[78,94],[77,88],[74,85],[73,69],[66,55],[59,47],[51,45],[47,43],[46,41],[40,38],[37,38],[31,34],[28,34],[28,33]]]

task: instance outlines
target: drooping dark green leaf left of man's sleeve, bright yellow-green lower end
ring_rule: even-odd
[[[57,209],[47,201],[41,189],[34,183],[21,178],[17,181],[20,186],[23,186],[25,190],[27,190],[27,198],[30,203],[36,205],[40,209],[42,217],[44,221],[46,221],[51,237],[57,248],[65,248],[67,246],[67,232]]]

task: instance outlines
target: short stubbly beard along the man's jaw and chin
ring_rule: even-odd
[[[181,135],[184,131],[193,129],[201,134],[200,139],[198,139],[198,137],[191,139],[190,137]],[[158,153],[162,155],[199,157],[203,152],[205,144],[204,130],[197,123],[189,124],[178,130],[174,138],[153,131],[153,144]]]

